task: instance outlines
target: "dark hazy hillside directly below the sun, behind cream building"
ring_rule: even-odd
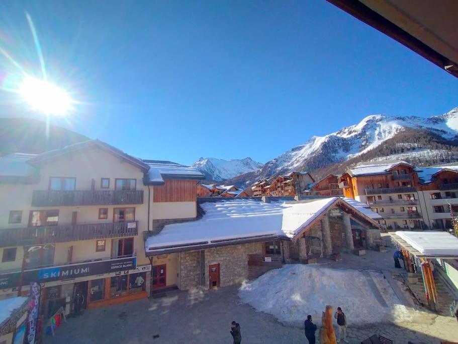
[[[89,140],[74,131],[32,118],[0,118],[0,156],[9,153],[39,154]]]

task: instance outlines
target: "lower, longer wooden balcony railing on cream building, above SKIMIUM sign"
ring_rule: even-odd
[[[0,230],[0,247],[136,235],[138,235],[138,221],[8,228]]]

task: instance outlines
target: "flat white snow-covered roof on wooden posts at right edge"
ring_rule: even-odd
[[[436,231],[398,231],[396,235],[421,254],[458,257],[458,238],[450,233]]]

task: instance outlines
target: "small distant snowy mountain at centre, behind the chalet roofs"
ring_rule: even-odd
[[[263,165],[253,161],[251,158],[245,159],[215,159],[200,158],[192,167],[201,171],[208,180],[222,181],[232,177],[259,170]]]

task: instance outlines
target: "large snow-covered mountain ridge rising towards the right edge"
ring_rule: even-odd
[[[458,107],[429,118],[370,115],[358,124],[328,135],[312,136],[305,144],[268,161],[261,170],[237,176],[229,182],[239,186],[249,185],[259,178],[303,168],[310,171],[343,162],[376,148],[406,128],[428,130],[446,140],[455,139],[458,134]]]

